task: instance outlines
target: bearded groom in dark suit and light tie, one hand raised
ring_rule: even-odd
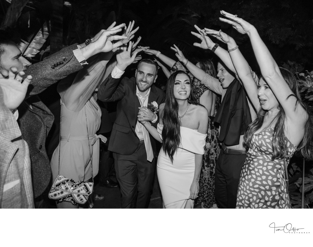
[[[165,100],[163,91],[153,84],[157,78],[157,65],[150,59],[139,62],[135,78],[124,77],[124,70],[136,54],[129,48],[116,55],[117,65],[111,75],[101,84],[98,99],[104,102],[117,101],[109,150],[115,160],[116,178],[121,187],[122,208],[147,208],[150,200],[155,170],[156,144],[145,127],[137,121],[139,107],[148,107],[155,101],[160,105]],[[149,107],[148,107],[149,108]],[[158,118],[146,109],[146,119],[156,126]]]

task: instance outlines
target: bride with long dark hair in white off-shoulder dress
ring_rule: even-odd
[[[194,100],[189,75],[177,71],[169,77],[157,129],[144,121],[144,116],[140,110],[138,121],[163,142],[157,161],[163,208],[193,208],[199,192],[208,111]]]

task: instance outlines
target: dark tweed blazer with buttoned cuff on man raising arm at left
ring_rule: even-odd
[[[73,54],[75,49],[77,44],[66,47],[44,61],[31,65],[25,71],[25,76],[32,75],[33,80],[28,87],[26,100],[18,107],[18,124],[22,137],[29,147],[35,198],[44,192],[51,179],[51,167],[45,142],[54,120],[51,111],[37,94],[83,68]]]

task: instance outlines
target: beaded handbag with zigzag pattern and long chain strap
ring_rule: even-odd
[[[88,182],[88,183],[81,182],[81,181],[74,182],[74,180],[65,178],[64,176],[60,175],[61,117],[62,117],[62,104],[61,104],[58,177],[55,179],[49,191],[49,198],[56,200],[57,203],[65,201],[65,202],[71,202],[73,205],[76,205],[77,203],[84,204],[87,202],[88,197],[92,193],[92,190],[94,187],[94,175],[92,172],[92,161],[91,161],[91,153],[90,153],[86,108],[85,108],[85,116],[86,116],[86,127],[87,127],[87,136],[88,136],[92,182]]]

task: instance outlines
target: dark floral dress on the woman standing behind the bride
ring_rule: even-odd
[[[188,73],[192,82],[193,96],[195,97],[197,103],[200,104],[201,95],[209,89],[201,84],[200,81],[197,80],[191,73],[189,73],[189,71],[179,61],[173,65],[171,73],[174,73],[177,70],[183,70]],[[204,207],[206,208],[210,208],[214,203],[216,203],[214,183],[215,165],[220,152],[220,147],[218,145],[218,127],[214,126],[213,119],[219,105],[219,97],[216,97],[214,115],[209,116],[208,132],[199,180],[199,194],[198,198],[195,200],[195,204],[203,203]]]

